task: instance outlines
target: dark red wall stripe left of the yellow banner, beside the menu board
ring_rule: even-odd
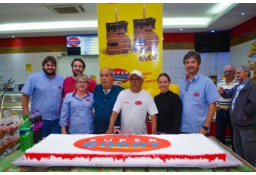
[[[66,36],[27,37],[14,39],[0,39],[0,47],[22,47],[39,45],[65,45]]]

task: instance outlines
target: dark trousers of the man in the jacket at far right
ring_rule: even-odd
[[[256,167],[256,128],[234,130],[234,149],[238,156]]]

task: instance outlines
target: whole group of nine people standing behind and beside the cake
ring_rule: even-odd
[[[83,74],[85,62],[74,59],[73,76],[56,75],[56,60],[47,56],[42,72],[31,75],[22,88],[22,108],[43,116],[43,135],[50,133],[121,133],[146,134],[151,118],[152,134],[203,133],[208,135],[216,112],[216,137],[225,143],[226,125],[232,132],[233,149],[251,165],[256,162],[256,84],[247,67],[224,67],[225,78],[217,87],[200,73],[200,53],[189,51],[183,58],[186,76],[180,82],[180,96],[169,90],[171,79],[160,73],[160,94],[153,97],[142,89],[142,72],[133,70],[130,88],[113,83],[111,68],[100,70],[100,82]],[[235,79],[234,76],[237,76]],[[94,110],[94,111],[93,111]]]

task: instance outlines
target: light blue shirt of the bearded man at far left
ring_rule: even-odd
[[[28,77],[22,93],[31,96],[31,111],[39,110],[44,120],[60,118],[62,110],[62,76],[48,77],[42,70]]]

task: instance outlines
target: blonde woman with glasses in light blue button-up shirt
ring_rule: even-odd
[[[65,96],[59,125],[62,134],[89,134],[94,132],[93,93],[88,92],[90,80],[85,74],[76,76],[76,89]],[[66,126],[70,121],[68,132]]]

